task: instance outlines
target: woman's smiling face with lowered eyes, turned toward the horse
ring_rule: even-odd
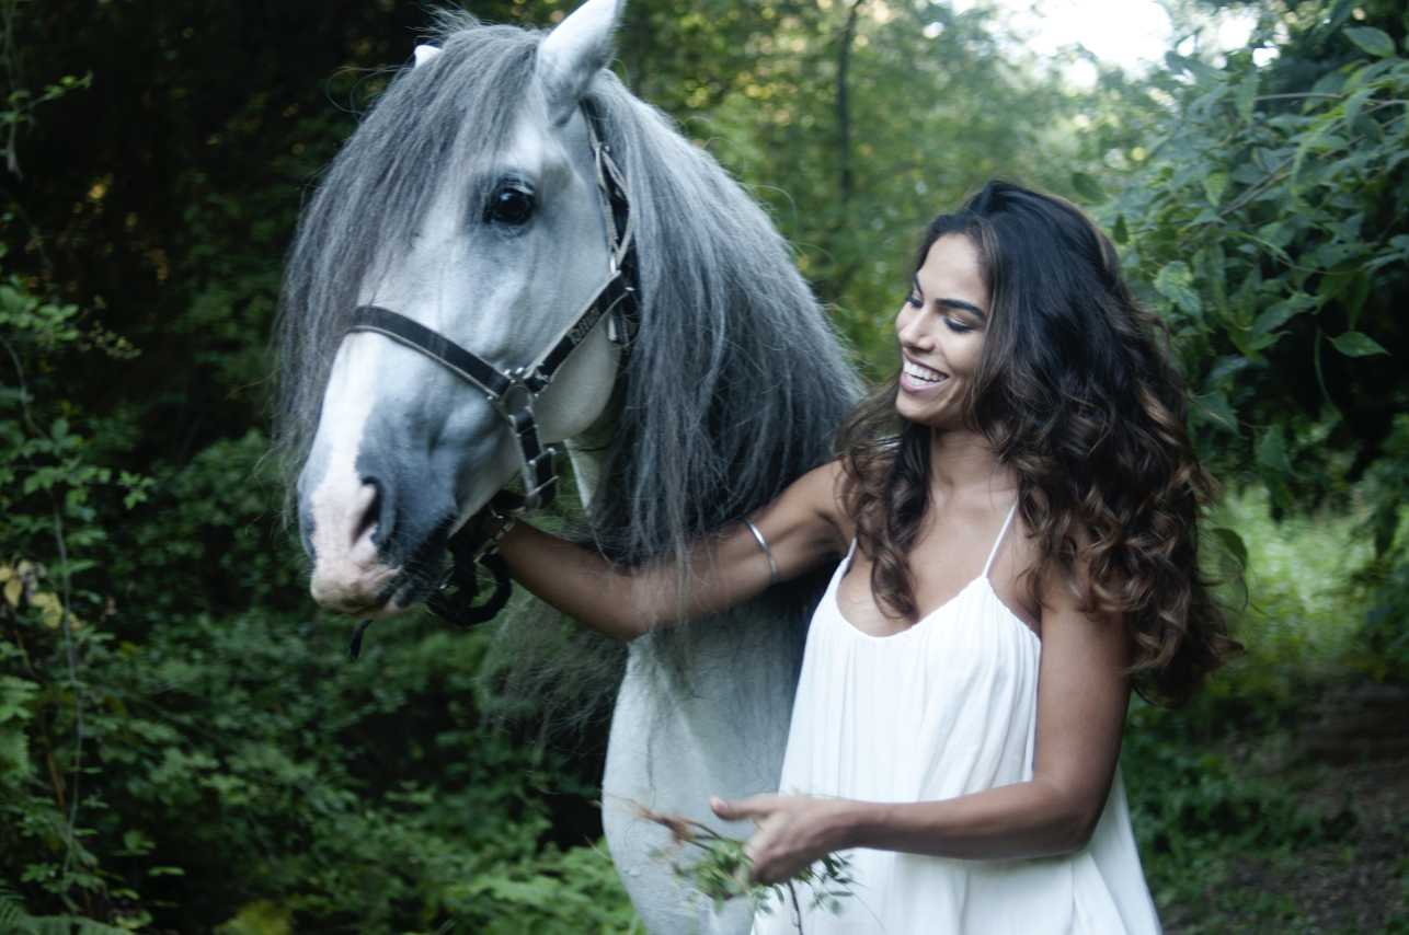
[[[962,234],[934,241],[914,275],[895,330],[900,337],[900,415],[933,428],[958,428],[988,325],[988,277],[978,248]]]

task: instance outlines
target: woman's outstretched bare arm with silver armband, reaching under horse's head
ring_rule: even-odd
[[[836,553],[845,541],[837,504],[840,466],[826,465],[790,484],[751,520],[768,541],[778,579],[789,580]],[[545,603],[612,639],[627,642],[678,620],[676,566],[613,565],[596,552],[519,524],[499,542],[514,580]],[[772,572],[743,522],[702,539],[690,552],[686,617],[741,604],[768,587]]]

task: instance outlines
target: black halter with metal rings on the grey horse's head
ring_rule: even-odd
[[[386,335],[392,341],[424,353],[485,394],[495,411],[509,424],[509,431],[514,437],[524,484],[523,494],[509,490],[500,490],[495,494],[495,508],[502,514],[513,515],[547,507],[558,493],[558,475],[552,465],[555,451],[544,448],[538,439],[538,422],[534,417],[534,403],[538,401],[538,394],[552,383],[562,365],[603,317],[610,315],[607,334],[613,342],[621,346],[623,363],[624,355],[630,349],[631,337],[635,334],[635,238],[626,179],[612,158],[610,148],[602,142],[600,117],[596,108],[588,101],[582,101],[582,113],[588,123],[588,142],[592,145],[597,197],[607,231],[607,277],[558,334],[557,341],[548,345],[547,351],[524,366],[500,370],[449,338],[379,306],[356,308],[352,313],[352,324],[344,332],[372,331]],[[509,569],[502,558],[492,553],[492,542],[472,544],[459,535],[451,536],[448,548],[454,565],[440,590],[427,600],[427,605],[461,627],[478,624],[497,614],[509,600]],[[485,565],[496,580],[495,593],[479,605],[472,604],[479,590],[475,565]],[[356,659],[361,649],[365,627],[364,622],[358,628],[352,645],[348,648],[348,655],[352,659]]]

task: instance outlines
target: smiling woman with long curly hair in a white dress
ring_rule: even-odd
[[[930,224],[902,370],[838,459],[688,575],[502,538],[520,583],[623,641],[845,556],[782,794],[712,805],[757,822],[754,880],[844,852],[854,898],[757,932],[1158,932],[1116,773],[1131,679],[1179,704],[1237,644],[1199,573],[1215,483],[1155,324],[1081,211],[995,182]]]

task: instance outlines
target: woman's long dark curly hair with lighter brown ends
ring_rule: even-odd
[[[1017,476],[1037,546],[1029,580],[1055,569],[1088,613],[1120,614],[1137,689],[1178,707],[1241,646],[1199,569],[1199,518],[1219,486],[1189,442],[1162,322],[1131,300],[1110,241],[1062,199],[991,182],[930,222],[916,270],[947,234],[969,238],[988,276],[965,417]],[[931,429],[896,413],[898,383],[862,400],[837,451],[872,590],[883,610],[909,617]]]

